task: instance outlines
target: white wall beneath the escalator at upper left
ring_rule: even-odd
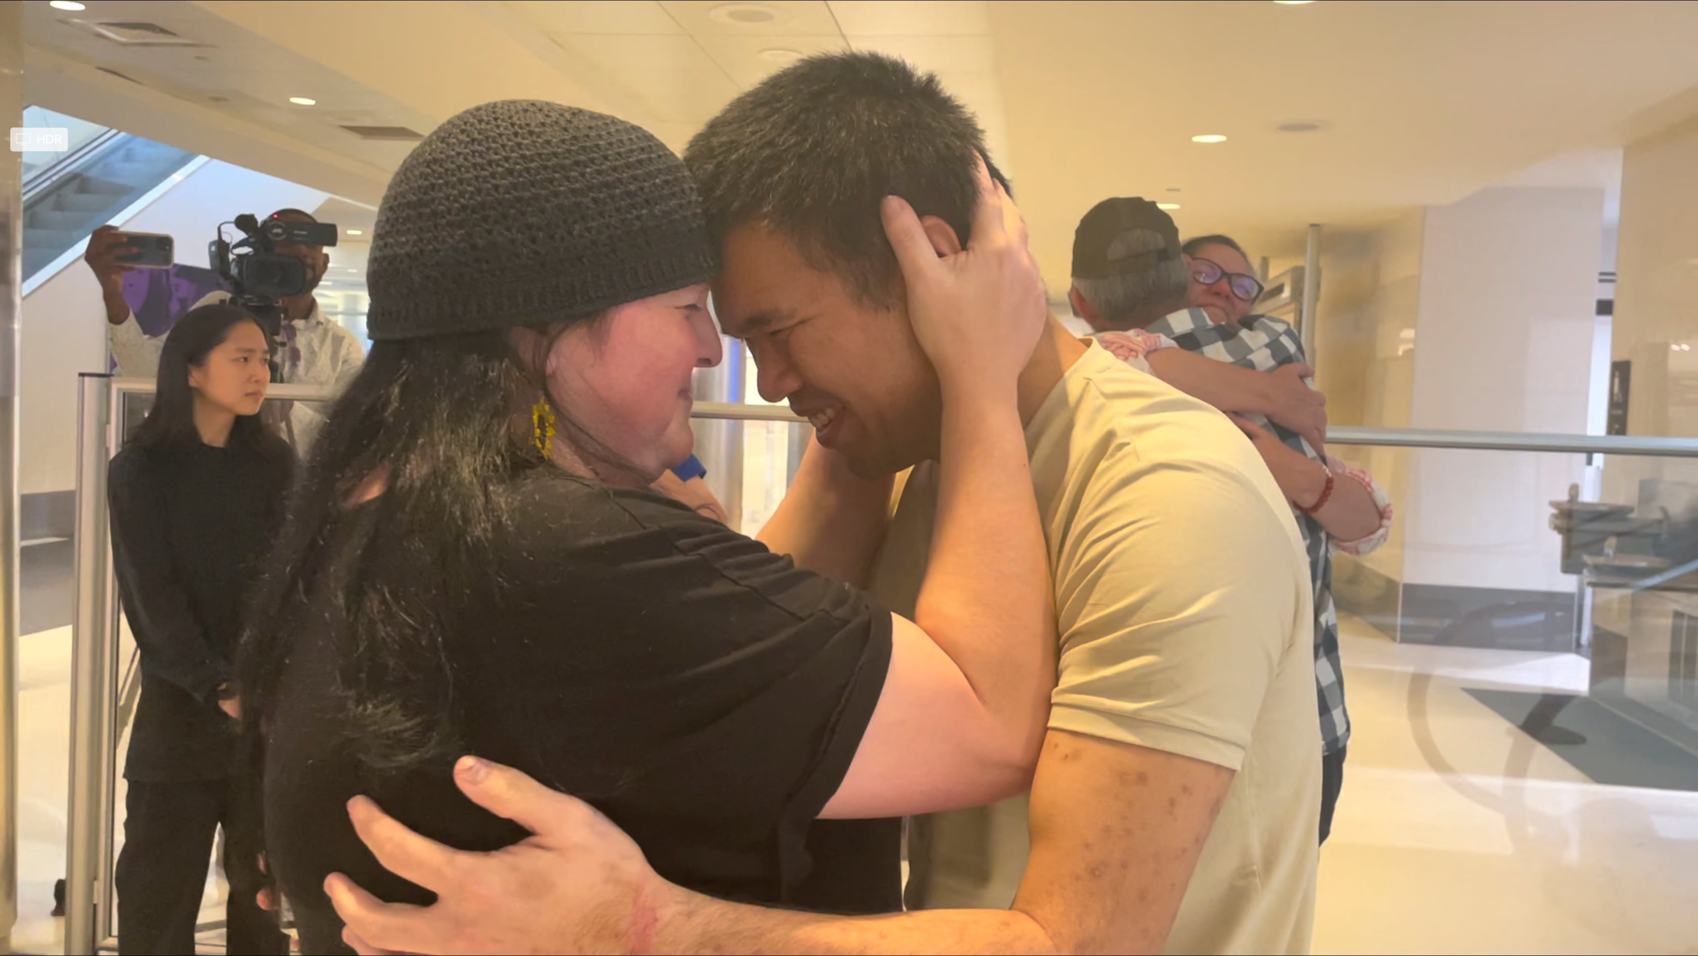
[[[326,197],[214,160],[119,224],[175,236],[177,260],[205,267],[205,246],[219,222],[239,212],[318,209]],[[105,329],[100,285],[82,261],[24,297],[20,494],[76,487],[76,375],[107,370]]]

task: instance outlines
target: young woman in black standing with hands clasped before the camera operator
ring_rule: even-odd
[[[112,555],[141,649],[131,728],[119,953],[194,953],[212,841],[224,827],[231,953],[287,953],[260,912],[251,783],[238,769],[233,684],[241,606],[287,499],[294,452],[260,421],[265,333],[236,306],[171,328],[153,411],[110,464]],[[245,793],[250,793],[245,798]]]

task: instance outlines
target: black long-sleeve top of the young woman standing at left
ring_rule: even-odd
[[[292,462],[239,447],[129,447],[112,458],[112,557],[141,649],[126,779],[221,779],[236,722],[217,706],[243,599],[282,521]]]

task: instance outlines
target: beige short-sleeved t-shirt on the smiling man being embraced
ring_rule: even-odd
[[[1049,727],[1238,771],[1168,953],[1306,953],[1321,803],[1309,564],[1248,440],[1092,345],[1026,430],[1056,584]],[[873,591],[912,615],[937,469],[900,491]],[[1007,908],[1026,798],[915,818],[910,908]],[[1133,905],[1127,900],[1127,905]]]

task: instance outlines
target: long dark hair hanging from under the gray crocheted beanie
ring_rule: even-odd
[[[538,336],[540,355],[564,329]],[[367,771],[458,756],[447,647],[465,627],[464,596],[499,586],[511,479],[545,465],[520,426],[547,396],[540,355],[520,355],[506,331],[372,346],[319,433],[250,605],[238,661],[250,734],[263,732],[294,642],[316,632],[336,645],[336,708]],[[353,504],[374,475],[382,494]]]

